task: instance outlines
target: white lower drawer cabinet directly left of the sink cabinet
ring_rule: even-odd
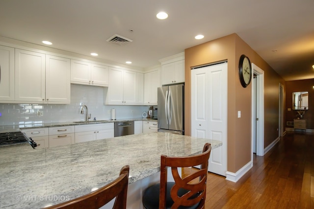
[[[74,126],[49,128],[49,147],[75,143]]]

